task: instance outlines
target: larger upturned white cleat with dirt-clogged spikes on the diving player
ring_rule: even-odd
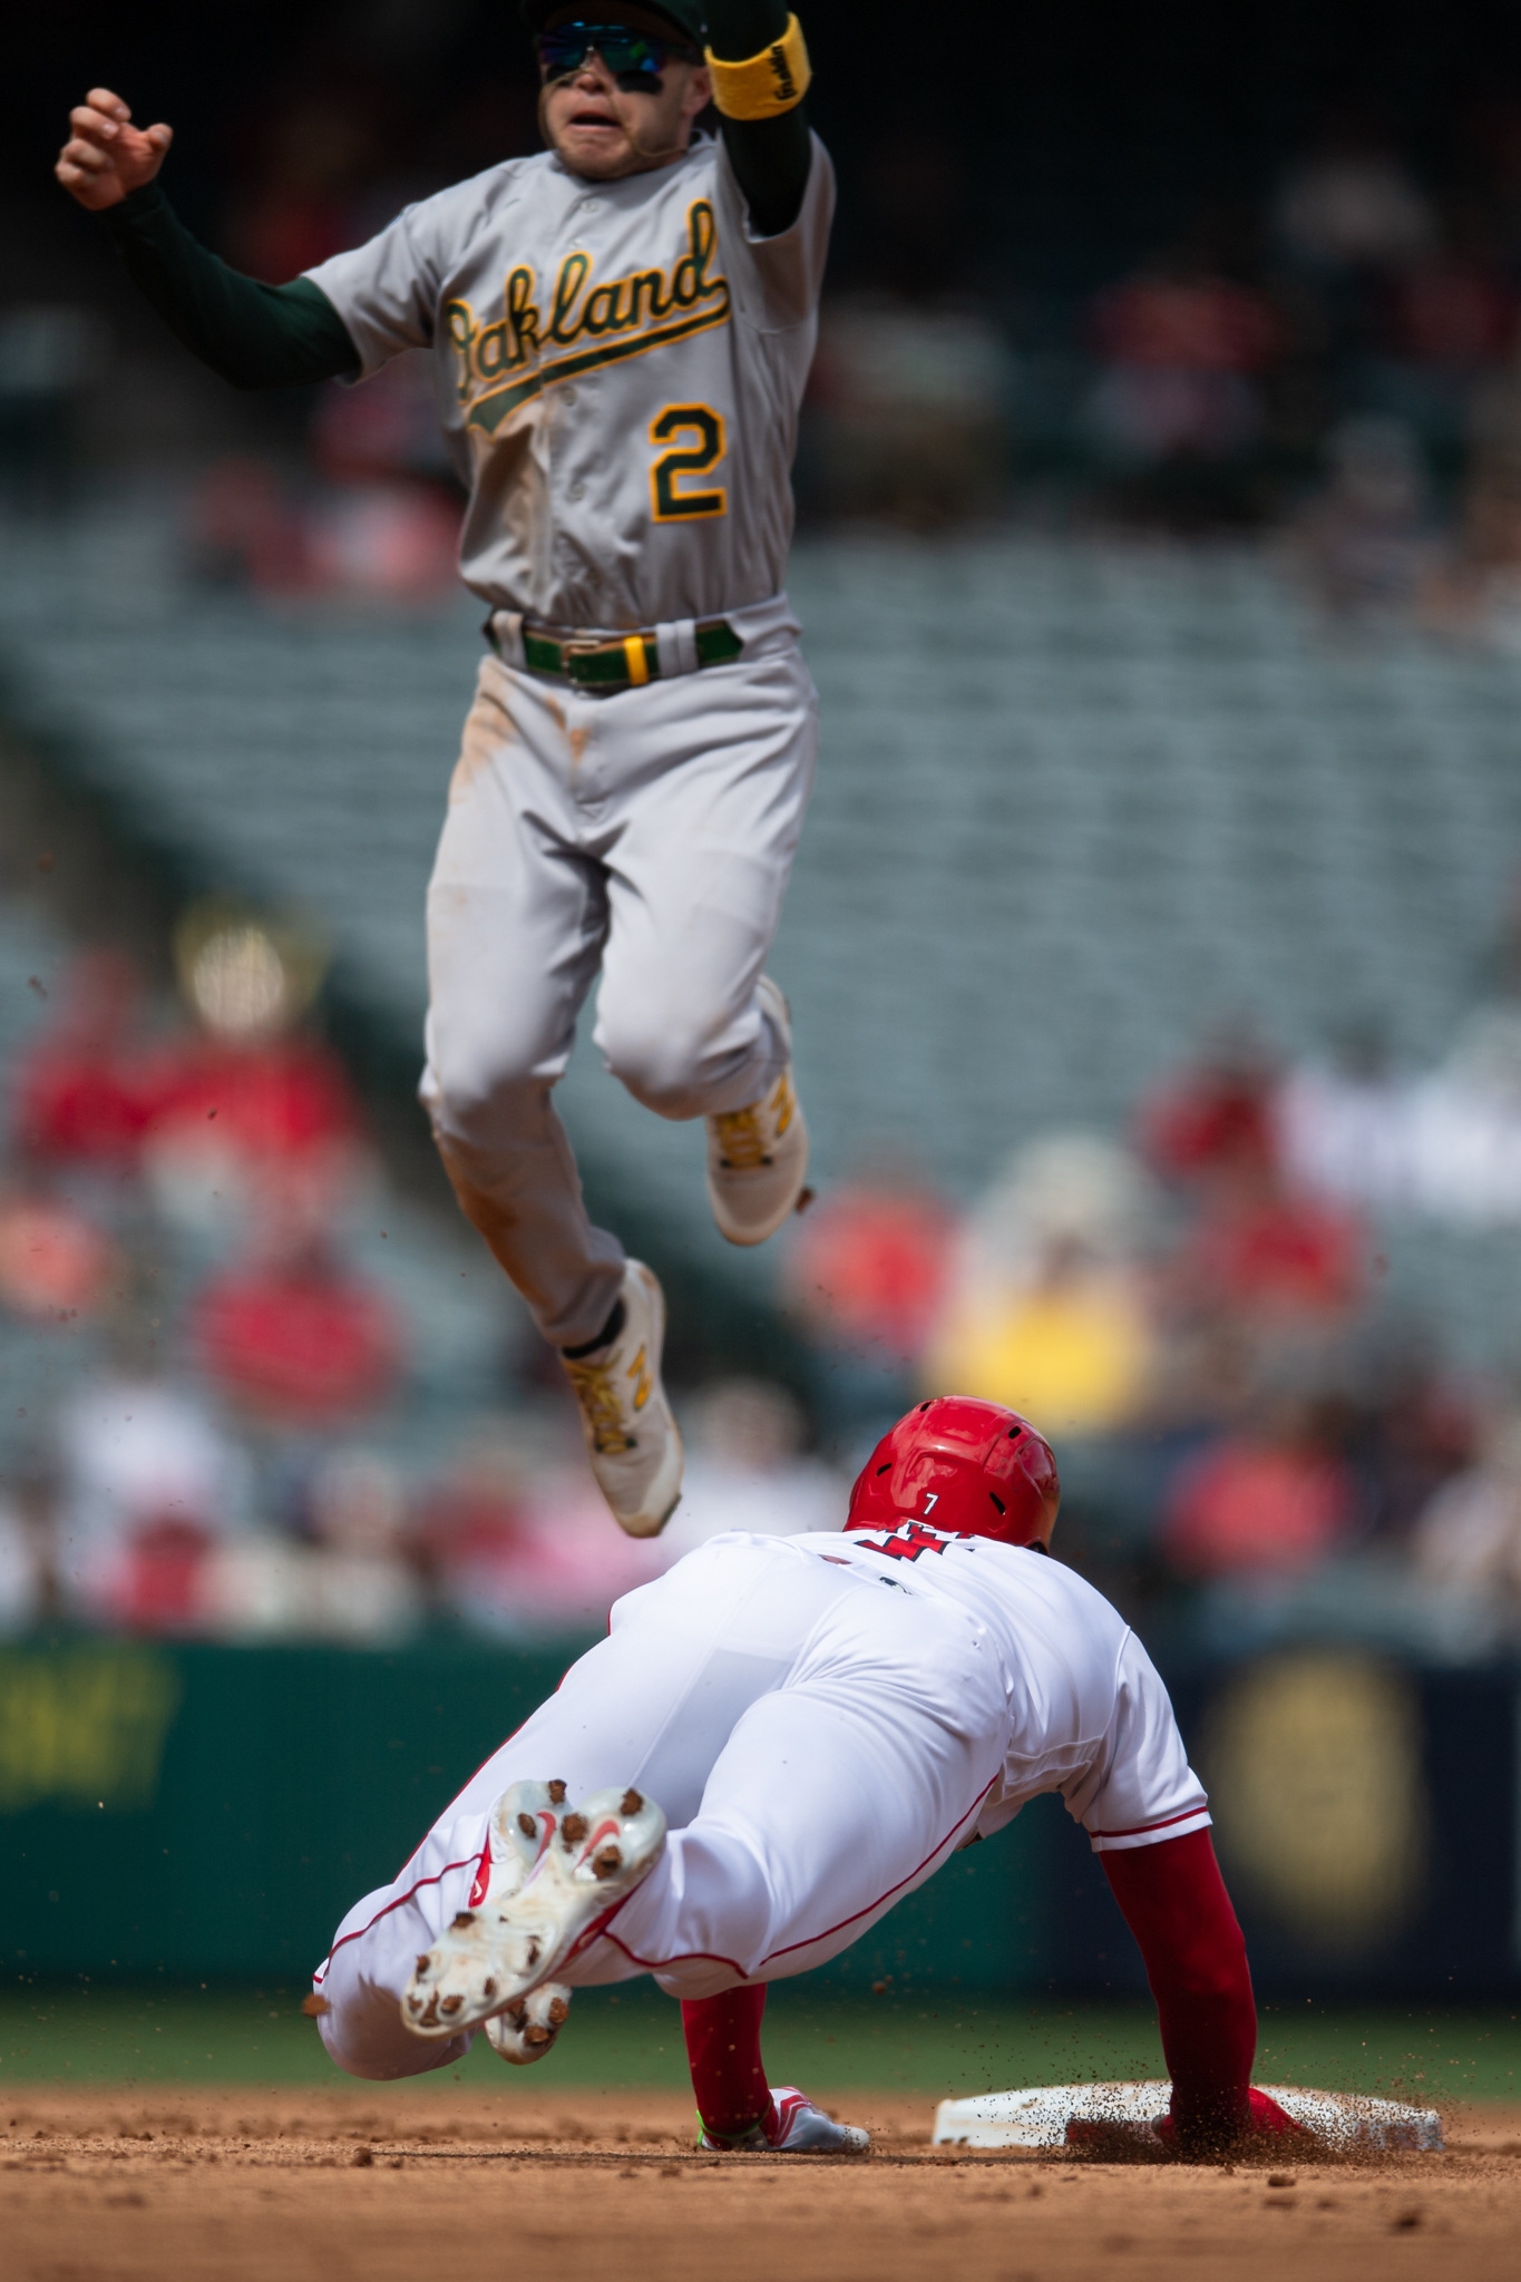
[[[504,1800],[493,1810],[493,1837]],[[415,2036],[449,2038],[515,2010],[518,1999],[545,1990],[577,1949],[595,1940],[600,1924],[650,1876],[664,1846],[666,1816],[652,1798],[623,1787],[584,1798],[572,1814],[561,1814],[511,1896],[461,1910],[417,1958],[401,1997],[404,2024]],[[550,2010],[552,1999],[543,2020],[522,2015],[524,2045],[531,2029],[552,2024]]]

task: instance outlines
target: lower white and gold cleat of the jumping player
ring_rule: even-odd
[[[561,1362],[613,1520],[632,1538],[657,1538],[682,1499],[682,1435],[659,1376],[666,1298],[641,1260],[625,1264],[620,1303],[618,1335]]]

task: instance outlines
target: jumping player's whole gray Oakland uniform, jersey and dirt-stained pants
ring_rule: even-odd
[[[429,890],[422,1091],[559,1346],[600,1333],[623,1278],[550,1107],[597,965],[597,1043],[661,1116],[743,1109],[787,1061],[755,984],[816,751],[782,577],[832,199],[819,141],[775,237],[714,137],[616,183],[540,153],[308,272],[363,374],[433,349],[470,488],[461,568],[497,655]],[[734,655],[700,664],[711,621]],[[632,630],[659,678],[595,696],[527,669],[524,637]]]

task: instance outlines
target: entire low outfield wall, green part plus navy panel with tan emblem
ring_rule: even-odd
[[[299,1981],[575,1652],[0,1648],[7,1974]],[[1320,1645],[1168,1680],[1259,1988],[1453,2001],[1521,1985],[1512,1670]],[[1047,1798],[816,1978],[1142,1988],[1083,1835]]]

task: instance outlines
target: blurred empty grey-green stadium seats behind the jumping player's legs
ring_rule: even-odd
[[[14,541],[25,712],[203,876],[322,926],[415,1052],[472,605],[196,591],[162,509]],[[1247,550],[814,539],[791,589],[823,762],[775,968],[825,1180],[892,1141],[971,1193],[1044,1127],[1120,1130],[1220,1018],[1300,1057],[1377,1015],[1402,1061],[1441,1057],[1521,851],[1512,659],[1327,632]],[[723,1253],[698,1132],[588,1052],[563,1098],[602,1191]],[[1498,1360],[1507,1253],[1412,1230],[1391,1273]],[[764,1260],[721,1267],[768,1292]]]

